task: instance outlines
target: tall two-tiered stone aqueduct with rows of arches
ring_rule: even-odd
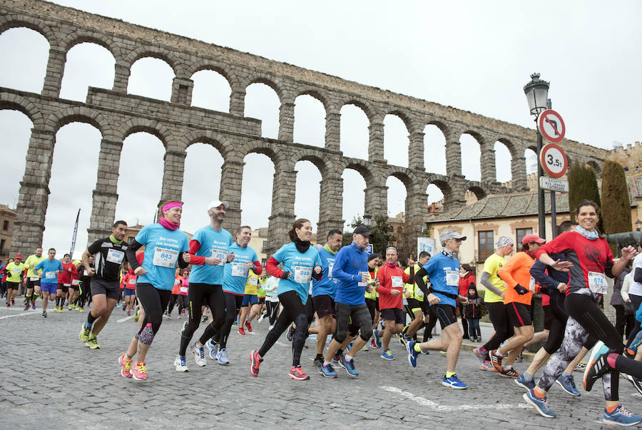
[[[413,226],[407,234],[412,237],[419,234],[427,212],[430,184],[442,190],[446,211],[464,206],[467,190],[483,199],[493,193],[528,189],[524,151],[535,148],[533,129],[44,1],[1,1],[0,33],[16,27],[39,32],[50,48],[41,93],[0,88],[0,109],[21,111],[33,123],[12,252],[27,252],[41,243],[56,132],[72,122],[89,123],[102,135],[88,229],[90,242],[110,229],[118,200],[116,183],[123,140],[140,131],[156,135],[165,147],[161,201],[181,198],[188,146],[206,143],[218,150],[224,160],[220,172],[224,186],[220,187],[219,198],[230,202],[228,230],[240,225],[245,156],[267,155],[275,165],[267,255],[285,241],[285,232],[294,220],[295,164],[300,160],[312,162],[322,176],[317,225],[321,237],[330,228],[344,224],[345,169],[356,170],[365,179],[365,212],[373,216],[387,212],[387,178],[394,176],[404,183],[404,213]],[[86,101],[81,103],[60,98],[60,89],[66,54],[83,42],[103,46],[116,62],[113,87],[90,87]],[[173,68],[175,78],[169,102],[128,94],[131,66],[146,57],[161,59]],[[228,80],[229,113],[190,106],[192,76],[202,70],[216,71]],[[244,116],[245,89],[252,83],[265,83],[277,93],[277,139],[263,138],[260,121]],[[323,147],[294,142],[295,100],[302,95],[316,98],[325,108]],[[340,151],[340,109],[345,105],[362,109],[370,122],[367,160],[345,157]],[[409,133],[408,167],[389,165],[384,159],[383,120],[389,114],[401,118]],[[446,175],[427,172],[424,167],[423,130],[429,124],[444,135]],[[472,135],[480,145],[481,181],[470,181],[462,175],[459,138],[464,134]],[[511,165],[501,166],[512,173],[511,188],[495,181],[496,142],[506,145],[511,153]],[[606,157],[605,150],[573,140],[563,140],[561,145],[571,160],[592,164],[596,170],[600,170]]]

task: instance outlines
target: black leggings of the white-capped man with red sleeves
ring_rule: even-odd
[[[188,323],[183,326],[183,331],[180,332],[180,348],[178,349],[178,355],[180,356],[185,355],[188,344],[200,325],[200,309],[203,304],[207,305],[210,308],[210,312],[212,312],[214,319],[212,324],[217,327],[223,325],[225,300],[223,299],[223,290],[221,290],[220,285],[190,282],[190,290],[188,291],[188,309],[190,313]]]

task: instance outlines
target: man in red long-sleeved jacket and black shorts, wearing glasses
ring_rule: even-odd
[[[386,250],[386,262],[377,272],[379,278],[379,309],[381,317],[385,322],[383,335],[382,359],[394,360],[389,349],[392,334],[401,333],[404,329],[405,315],[403,309],[404,284],[414,278],[414,261],[408,259],[410,274],[407,274],[401,267],[397,266],[397,249],[388,247]]]

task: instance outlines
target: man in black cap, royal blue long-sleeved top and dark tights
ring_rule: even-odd
[[[365,292],[374,290],[370,282],[367,246],[370,244],[372,233],[365,225],[360,225],[352,232],[352,243],[342,247],[335,256],[332,266],[332,277],[337,280],[337,296],[335,309],[337,312],[337,329],[335,336],[327,347],[325,359],[320,369],[320,374],[327,378],[336,378],[337,372],[330,364],[335,352],[339,352],[337,362],[351,377],[359,375],[355,367],[354,357],[372,337],[372,318],[365,304]],[[371,262],[374,259],[370,260]],[[348,354],[342,354],[340,349],[346,340],[348,332],[361,330],[360,337],[355,339],[352,349]]]

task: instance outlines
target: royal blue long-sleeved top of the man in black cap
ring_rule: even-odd
[[[368,253],[352,242],[335,255],[332,277],[337,280],[335,302],[355,306],[365,304],[367,282],[361,282],[361,273],[368,272]],[[362,284],[362,285],[360,285]]]

